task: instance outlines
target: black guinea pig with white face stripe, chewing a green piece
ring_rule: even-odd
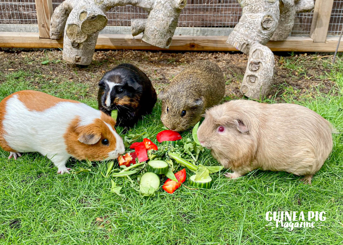
[[[118,110],[117,125],[132,127],[152,111],[156,91],[147,75],[131,64],[120,64],[105,73],[99,82],[99,110],[111,115]]]

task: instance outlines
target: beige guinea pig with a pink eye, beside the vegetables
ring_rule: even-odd
[[[231,100],[206,112],[197,131],[200,144],[237,178],[255,169],[305,175],[311,184],[331,153],[333,128],[296,104]]]

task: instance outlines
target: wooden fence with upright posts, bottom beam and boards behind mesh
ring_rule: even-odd
[[[33,2],[33,0],[28,1]],[[39,32],[0,32],[0,47],[63,48],[63,39],[49,39],[50,16],[53,9],[59,4],[59,1],[60,0],[35,0],[37,20],[34,20],[34,22],[37,22]],[[230,27],[232,28],[233,25],[228,26],[228,23],[231,25],[231,23],[235,24],[238,22],[241,12],[236,0],[201,0],[202,4],[199,4],[199,1],[200,0],[188,0],[187,12],[183,13],[179,19],[180,27],[196,28],[206,26],[207,23],[207,27],[221,27],[229,29]],[[204,1],[209,1],[209,3],[211,1],[212,4],[214,3],[213,1],[216,1],[216,13],[213,13],[214,10],[209,6],[206,6]],[[228,9],[227,4],[232,5],[232,7],[229,8],[231,9],[231,12],[225,12],[225,9]],[[225,8],[223,6],[225,6]],[[128,22],[131,18],[146,17],[146,12],[139,13],[137,16],[137,13],[130,10],[131,7],[132,6],[126,6],[126,9],[128,8],[129,11],[126,11],[126,16],[124,16],[124,18],[123,16],[120,19],[109,18],[108,25],[129,26],[130,23]],[[306,28],[311,26],[309,35],[290,36],[284,41],[270,41],[267,46],[272,51],[335,51],[338,43],[338,36],[328,36],[328,33],[332,34],[329,29],[329,26],[331,25],[330,22],[333,23],[333,21],[336,21],[337,23],[335,18],[338,18],[335,14],[332,14],[333,7],[336,9],[342,9],[343,1],[335,1],[334,6],[334,0],[316,0],[313,13],[301,17],[301,24],[303,26],[306,25]],[[113,11],[115,12],[116,10],[114,9]],[[183,11],[185,11],[185,9]],[[17,12],[20,13],[20,10]],[[209,20],[210,17],[211,20]],[[226,19],[224,20],[224,18]],[[30,23],[30,21],[32,22],[32,19],[33,18],[27,18],[25,24],[35,24]],[[124,23],[125,21],[127,23]],[[295,30],[297,29],[295,28]],[[304,28],[300,26],[299,31],[304,31]],[[335,33],[337,34],[337,31]],[[96,49],[163,50],[143,42],[141,38],[141,35],[132,37],[130,34],[99,34]],[[226,44],[226,39],[227,35],[174,35],[172,45],[169,50],[236,50],[233,46]],[[343,51],[343,45],[340,45],[339,51]]]

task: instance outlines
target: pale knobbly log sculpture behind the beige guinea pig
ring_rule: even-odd
[[[264,46],[269,40],[285,40],[292,31],[295,13],[314,8],[313,0],[238,0],[243,8],[239,23],[227,43],[249,54],[241,93],[249,98],[268,94],[275,63],[272,51]]]

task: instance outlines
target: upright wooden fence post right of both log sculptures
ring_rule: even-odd
[[[316,0],[310,37],[315,43],[325,43],[334,0]]]

